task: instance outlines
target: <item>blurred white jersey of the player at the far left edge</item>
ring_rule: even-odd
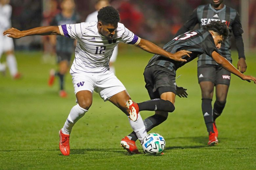
[[[0,5],[0,30],[11,28],[11,5]]]

